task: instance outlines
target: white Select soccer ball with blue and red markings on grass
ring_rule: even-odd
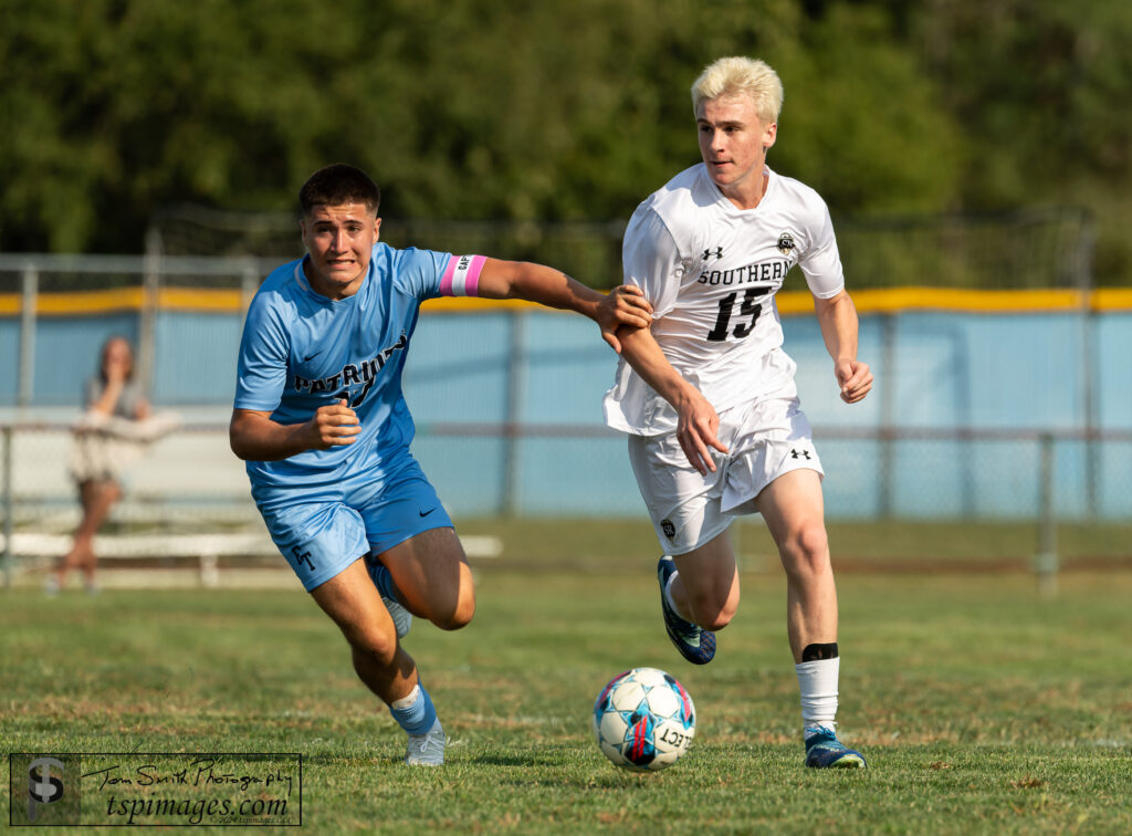
[[[696,709],[684,685],[654,667],[618,674],[593,703],[598,747],[614,764],[645,773],[680,759],[696,733]]]

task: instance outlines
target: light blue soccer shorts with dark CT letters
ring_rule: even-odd
[[[412,458],[384,480],[357,476],[293,496],[260,504],[259,511],[308,592],[359,557],[380,554],[421,531],[452,528],[452,518]]]

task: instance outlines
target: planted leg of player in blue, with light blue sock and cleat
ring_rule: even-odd
[[[420,684],[417,663],[401,647],[365,561],[354,561],[310,595],[350,642],[359,679],[389,706],[394,719],[408,732],[405,761],[444,764],[444,730],[432,700]]]

